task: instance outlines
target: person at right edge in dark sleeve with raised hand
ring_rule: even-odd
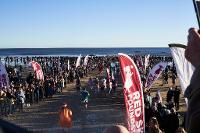
[[[197,133],[200,131],[200,34],[197,29],[189,29],[185,58],[195,67],[190,85],[184,94],[188,98],[185,126],[188,133]]]

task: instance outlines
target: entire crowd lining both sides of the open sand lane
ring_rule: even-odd
[[[134,56],[132,58],[136,60]],[[115,79],[116,75],[120,73],[117,57],[93,57],[87,66],[79,67],[75,67],[76,58],[72,57],[6,57],[4,60],[10,85],[9,88],[1,88],[1,116],[11,115],[16,110],[23,111],[25,106],[31,106],[45,98],[51,98],[55,93],[62,93],[69,83],[75,84],[74,88],[80,92],[80,100],[84,103],[85,108],[88,107],[89,92],[94,92],[95,95],[101,92],[112,94],[115,93],[118,86],[118,81]],[[37,80],[34,71],[27,72],[26,75],[23,74],[23,71],[26,70],[24,66],[28,66],[32,60],[40,63],[44,73],[44,81]],[[172,62],[172,57],[151,56],[147,70],[139,70],[143,83],[149,70],[160,61]],[[89,78],[87,88],[83,87],[81,78],[87,76],[88,71],[93,70],[98,70],[99,73],[95,77]],[[106,71],[106,74],[103,71]],[[175,75],[173,76],[173,74]],[[162,76],[163,84],[167,84],[168,77],[171,77],[172,87],[175,87],[177,75],[174,65],[167,66],[162,75],[164,75]],[[179,102],[175,100],[177,99],[175,98],[175,90],[173,90],[173,94],[167,94],[166,105],[162,103],[159,95],[152,97],[150,91],[144,92],[146,130],[150,130],[150,121],[153,118],[157,120],[161,131],[170,133],[178,129],[180,124],[176,109],[178,110]],[[174,97],[174,101],[172,97]],[[168,124],[169,121],[171,127]]]

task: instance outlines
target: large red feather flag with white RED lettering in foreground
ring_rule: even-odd
[[[124,84],[128,129],[130,133],[144,133],[144,99],[140,74],[128,55],[122,53],[118,55]]]

